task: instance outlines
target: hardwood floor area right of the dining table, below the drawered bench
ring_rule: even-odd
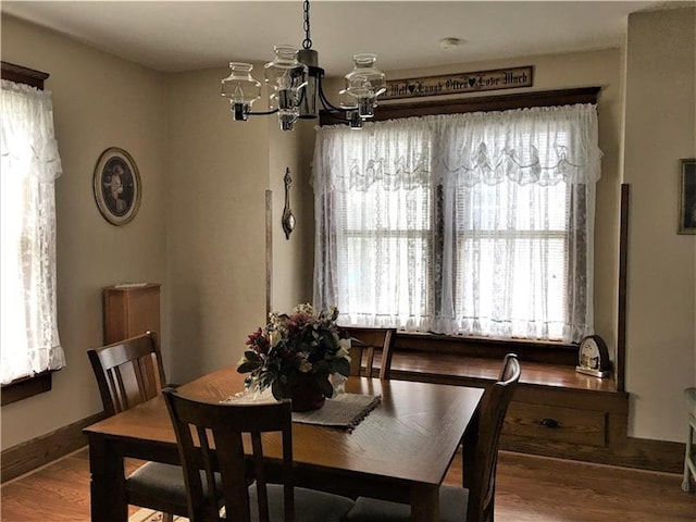
[[[447,482],[461,476],[459,462]],[[495,520],[696,522],[696,495],[681,484],[676,474],[500,451]]]

